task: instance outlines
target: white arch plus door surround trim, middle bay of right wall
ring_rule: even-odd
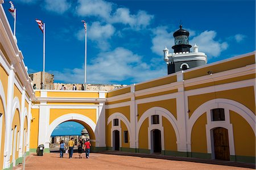
[[[177,120],[176,120],[176,118],[174,117],[174,115],[170,111],[168,111],[167,109],[164,109],[164,108],[160,108],[160,107],[152,107],[152,108],[148,109],[146,112],[144,112],[142,114],[141,118],[139,118],[138,126],[137,126],[138,128],[137,128],[137,131],[136,131],[137,139],[139,138],[139,130],[141,129],[141,126],[142,126],[144,120],[146,120],[146,118],[151,120],[151,116],[154,115],[154,114],[158,114],[159,115],[159,120],[160,120],[160,117],[167,118],[167,120],[172,125],[172,128],[174,128],[175,135],[176,135],[176,140],[177,140],[176,142],[179,142],[180,141],[180,134],[179,134],[179,129],[177,128]],[[160,125],[155,125],[154,126],[154,125],[151,125],[151,122],[150,122],[150,124],[148,126],[149,127],[152,126],[152,128],[158,128],[159,130],[161,130],[161,138],[164,137],[163,129],[161,128]],[[148,130],[150,130],[150,129],[148,129]],[[163,142],[164,142],[164,138],[162,140],[162,150],[164,149],[164,143]]]

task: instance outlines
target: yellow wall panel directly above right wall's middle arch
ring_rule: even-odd
[[[138,104],[138,120],[141,118],[142,114],[146,112],[148,109],[152,107],[162,107],[170,111],[175,118],[177,118],[177,111],[176,111],[176,99],[168,99],[168,100],[160,100],[154,101],[150,103],[143,103]]]

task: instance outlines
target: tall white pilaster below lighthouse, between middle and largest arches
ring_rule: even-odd
[[[183,71],[177,74],[177,81],[183,82]],[[187,152],[187,118],[188,106],[185,105],[184,84],[178,87],[177,103],[177,126],[179,129],[180,140],[177,141],[177,151]]]

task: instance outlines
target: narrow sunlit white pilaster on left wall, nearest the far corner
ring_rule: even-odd
[[[23,156],[23,133],[24,133],[24,109],[25,109],[26,88],[22,91],[21,117],[20,117],[20,133],[19,133],[19,158]],[[25,145],[25,143],[24,143]]]

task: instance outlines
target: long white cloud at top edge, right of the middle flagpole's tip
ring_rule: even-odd
[[[146,11],[138,11],[134,15],[130,14],[129,8],[115,6],[114,3],[102,0],[79,0],[76,11],[79,16],[98,16],[104,22],[122,23],[137,30],[147,27],[154,18],[154,15],[149,15]]]

